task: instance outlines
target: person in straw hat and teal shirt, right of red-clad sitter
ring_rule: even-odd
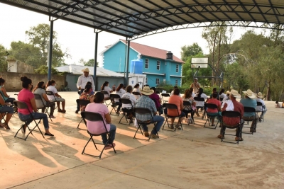
[[[246,91],[243,91],[245,97],[241,99],[240,103],[242,103],[246,107],[251,107],[256,109],[256,95],[251,91],[251,89],[248,89]],[[256,125],[258,122],[258,115],[256,113],[244,113],[244,120],[252,120],[251,123],[251,130],[250,132],[256,132]],[[255,125],[255,127],[254,127]]]

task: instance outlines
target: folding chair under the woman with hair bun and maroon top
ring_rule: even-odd
[[[16,105],[16,107],[17,107],[18,109],[26,109],[26,110],[28,110],[28,112],[30,113],[31,120],[33,120],[33,122],[35,122],[35,127],[33,127],[33,129],[31,130],[30,127],[28,127],[28,124],[27,124],[27,122],[28,122],[28,121],[31,121],[31,120],[21,120],[21,118],[20,118],[20,120],[21,120],[22,122],[25,122],[25,124],[24,124],[24,125],[21,125],[20,129],[16,132],[16,134],[15,134],[14,137],[17,137],[18,132],[22,129],[22,127],[25,127],[25,125],[27,125],[26,128],[28,128],[28,130],[29,130],[28,134],[26,135],[26,138],[21,138],[21,137],[17,137],[17,138],[26,140],[26,139],[28,138],[28,135],[29,135],[29,134],[32,134],[32,135],[33,135],[33,131],[35,131],[35,132],[40,132],[40,134],[43,135],[43,132],[41,132],[40,127],[38,127],[38,124],[40,123],[40,120],[42,120],[42,119],[38,119],[38,122],[36,122],[36,121],[35,121],[35,118],[33,118],[33,114],[32,114],[31,111],[28,109],[28,105],[26,105],[26,103],[21,102],[21,101],[13,101],[13,103]],[[38,128],[38,130],[35,130],[35,128]],[[45,138],[45,137],[43,136],[43,138]]]

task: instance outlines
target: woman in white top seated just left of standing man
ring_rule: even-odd
[[[66,113],[65,110],[65,99],[61,98],[61,96],[58,94],[58,90],[55,88],[56,82],[54,80],[48,81],[48,84],[46,84],[46,91],[52,91],[54,93],[53,95],[48,95],[48,99],[51,102],[57,102],[58,103],[58,112],[59,113]],[[60,102],[62,103],[62,109],[60,109]]]

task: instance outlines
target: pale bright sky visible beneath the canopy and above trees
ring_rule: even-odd
[[[50,24],[48,16],[1,3],[0,18],[0,44],[8,50],[12,41],[28,42],[25,35],[26,30],[40,23]],[[58,20],[53,23],[53,30],[58,33],[58,42],[62,51],[67,50],[67,53],[72,57],[65,59],[65,63],[78,64],[80,59],[87,61],[94,58],[95,34],[93,28]],[[179,58],[182,46],[197,42],[203,52],[208,54],[209,50],[206,40],[202,38],[202,30],[203,28],[175,30],[138,38],[133,42],[171,51]],[[249,29],[234,27],[233,41],[241,38],[241,34],[246,30]],[[119,39],[125,40],[125,37],[107,32],[99,33],[98,54],[105,50],[106,46],[114,44]],[[98,62],[102,63],[100,55],[98,55]]]

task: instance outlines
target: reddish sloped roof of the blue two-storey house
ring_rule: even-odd
[[[124,42],[125,44],[125,40],[121,40],[121,42]],[[159,58],[159,59],[165,59],[165,55],[167,54],[167,50],[161,50],[155,47],[150,47],[148,45],[142,45],[136,42],[130,42],[130,47],[133,50],[136,50],[137,52],[141,53],[141,55],[147,56],[147,57],[155,57],[155,58]],[[179,59],[178,57],[175,57],[175,55],[173,55],[173,60],[175,62],[183,62],[181,59]]]

